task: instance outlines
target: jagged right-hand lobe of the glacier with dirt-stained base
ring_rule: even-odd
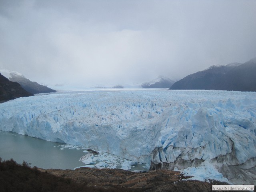
[[[255,117],[256,102],[248,96],[174,106],[161,128],[150,168],[184,169],[207,161],[234,184],[254,184]]]

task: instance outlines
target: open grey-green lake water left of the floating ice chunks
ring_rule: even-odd
[[[74,169],[85,164],[79,159],[84,155],[83,150],[61,149],[61,143],[50,142],[19,135],[12,132],[0,131],[0,157],[2,160],[12,158],[17,163],[25,160],[31,166],[48,169]]]

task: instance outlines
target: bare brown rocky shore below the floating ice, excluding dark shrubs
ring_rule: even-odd
[[[86,184],[103,190],[121,188],[128,191],[212,191],[212,185],[225,184],[218,181],[201,182],[186,180],[180,172],[171,170],[154,170],[144,173],[135,173],[121,169],[78,168],[76,170],[38,169],[54,176],[70,178],[79,184]]]

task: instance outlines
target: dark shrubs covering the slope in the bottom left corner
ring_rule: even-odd
[[[121,190],[122,189],[122,190]],[[36,166],[30,168],[30,163],[18,164],[13,159],[2,161],[0,158],[0,192],[99,192],[99,191],[130,191],[124,188],[101,187],[80,184],[70,178],[54,176],[41,172]],[[132,190],[138,191],[138,190]]]

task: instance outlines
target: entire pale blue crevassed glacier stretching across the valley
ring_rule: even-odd
[[[94,90],[0,104],[0,130],[85,146],[151,169],[211,164],[233,184],[256,180],[256,92]],[[207,163],[206,163],[207,162]]]

